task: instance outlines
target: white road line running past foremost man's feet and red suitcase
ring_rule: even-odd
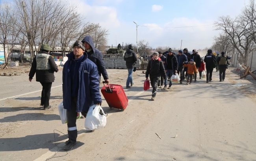
[[[143,92],[145,92],[145,91],[140,91],[140,92],[136,93],[134,96],[132,96],[132,97],[129,99],[128,102],[132,102],[132,100],[134,100],[137,96],[141,95]],[[107,118],[108,118],[109,116],[111,116],[111,115],[113,115],[113,113],[108,113]],[[81,130],[84,130],[84,128],[81,129]],[[82,135],[82,134],[85,134],[85,133],[80,133],[81,130],[78,131],[78,136],[79,136],[79,135]],[[56,153],[59,152],[59,148],[62,147],[62,146],[64,146],[64,145],[65,145],[65,142],[59,143],[59,144],[56,145],[54,148],[48,150],[48,152],[46,152],[46,153],[43,154],[42,156],[38,157],[38,158],[35,159],[34,161],[45,161],[46,159],[51,158],[52,156],[56,155]],[[69,152],[69,151],[68,151],[68,152]]]

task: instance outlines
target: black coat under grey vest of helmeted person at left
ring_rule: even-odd
[[[45,51],[42,51],[42,53],[48,54]],[[34,57],[33,62],[31,64],[30,72],[29,72],[29,79],[33,79],[35,75],[35,80],[37,82],[54,82],[54,71],[58,72],[58,67],[56,63],[54,62],[54,59],[51,55],[49,55],[48,58],[49,64],[50,64],[50,70],[37,70],[37,61],[36,57]]]

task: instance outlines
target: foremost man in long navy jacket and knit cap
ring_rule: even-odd
[[[76,41],[73,52],[67,57],[68,60],[63,67],[62,90],[63,106],[67,109],[69,140],[65,142],[64,150],[69,150],[76,144],[77,112],[81,112],[86,117],[90,106],[100,105],[102,102],[97,66],[87,58],[83,43]]]

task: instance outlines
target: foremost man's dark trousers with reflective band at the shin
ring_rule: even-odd
[[[71,110],[67,110],[67,126],[68,126],[68,135],[69,135],[69,141],[71,143],[76,143],[77,138],[77,128],[76,128],[76,98],[72,98],[71,102]],[[81,112],[84,117],[86,117],[85,112]]]

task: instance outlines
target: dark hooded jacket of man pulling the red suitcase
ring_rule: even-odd
[[[98,49],[95,49],[93,38],[91,38],[90,36],[85,36],[82,42],[83,43],[87,42],[91,46],[92,50],[87,52],[87,55],[88,55],[88,59],[94,62],[98,68],[98,75],[99,75],[98,80],[100,80],[101,74],[104,79],[108,79],[108,73],[105,67],[102,53]]]

